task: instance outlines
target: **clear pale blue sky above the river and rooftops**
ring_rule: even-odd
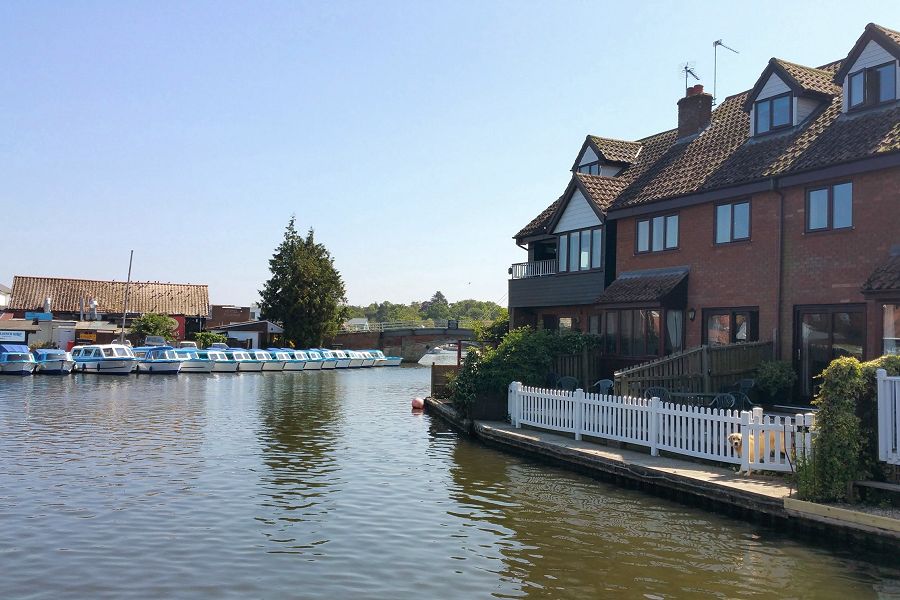
[[[511,236],[588,133],[676,124],[771,56],[842,58],[866,2],[4,2],[0,282],[205,282],[249,303],[291,213],[354,304],[506,299]]]

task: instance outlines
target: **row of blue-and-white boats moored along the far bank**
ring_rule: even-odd
[[[269,371],[318,371],[400,366],[399,356],[381,350],[329,350],[311,348],[244,349],[213,344],[210,348],[174,348],[94,344],[76,346],[71,352],[0,344],[0,374],[67,375],[72,372],[128,375],[129,373],[245,373]]]

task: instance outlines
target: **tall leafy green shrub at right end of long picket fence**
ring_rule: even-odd
[[[846,498],[848,484],[861,473],[856,406],[864,388],[862,366],[855,358],[838,358],[818,377],[822,387],[813,400],[819,407],[817,434],[812,456],[797,465],[797,491],[805,500],[833,502]]]

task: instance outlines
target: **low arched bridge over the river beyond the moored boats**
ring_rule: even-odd
[[[435,346],[474,340],[475,331],[471,325],[474,323],[452,321],[369,323],[343,327],[334,336],[332,345],[346,350],[377,348],[389,356],[402,356],[404,362],[418,362]]]

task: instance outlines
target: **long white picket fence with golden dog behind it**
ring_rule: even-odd
[[[900,397],[900,396],[898,396]],[[603,396],[509,385],[509,415],[515,427],[572,433],[605,440],[647,446],[717,462],[741,465],[749,471],[793,471],[797,456],[812,448],[812,414],[794,417],[719,410],[660,402],[659,398]],[[728,436],[740,433],[741,452]]]

